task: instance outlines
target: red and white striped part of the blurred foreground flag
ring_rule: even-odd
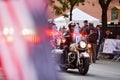
[[[29,61],[26,43],[19,34],[24,27],[33,27],[25,0],[0,1],[0,26],[13,27],[14,42],[8,44],[0,35],[0,56],[6,80],[37,80],[33,64]]]

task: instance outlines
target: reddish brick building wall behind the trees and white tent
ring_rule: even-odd
[[[55,4],[59,5],[57,0],[55,1]],[[110,3],[109,8],[108,8],[108,13],[107,13],[108,21],[111,21],[111,9],[115,6],[120,6],[119,0],[113,0]],[[85,0],[84,4],[80,4],[79,6],[76,6],[76,7],[78,7],[80,10],[86,12],[87,14],[98,18],[101,21],[101,14],[102,14],[101,12],[102,11],[101,11],[101,7],[98,3],[98,0]],[[74,7],[74,8],[76,8],[76,7]],[[54,19],[56,17],[59,17],[54,14],[54,10],[51,8],[51,6],[49,6],[48,10],[49,10],[49,18]],[[66,12],[68,12],[68,11],[66,11]]]

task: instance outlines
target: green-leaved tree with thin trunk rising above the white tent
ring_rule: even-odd
[[[65,17],[68,15],[64,14],[66,10],[70,10],[70,18],[69,20],[72,21],[72,11],[74,6],[79,5],[79,3],[83,3],[85,0],[57,0],[60,3],[60,6],[54,4],[55,0],[50,0],[51,4],[53,5],[53,10],[55,11],[55,15],[63,14]]]

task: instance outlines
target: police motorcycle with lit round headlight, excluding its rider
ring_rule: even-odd
[[[62,71],[78,69],[81,75],[86,75],[89,70],[90,56],[87,50],[90,48],[85,35],[74,35],[74,43],[68,47],[65,38],[58,41],[55,53],[60,55],[59,67]]]

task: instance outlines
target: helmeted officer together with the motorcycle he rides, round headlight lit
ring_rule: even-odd
[[[81,40],[82,36],[74,34],[75,23],[70,22],[68,24],[69,30],[64,37],[66,38],[66,45],[62,48],[63,53],[60,54],[59,67],[62,71],[70,69],[78,69],[80,74],[86,75],[89,70],[90,56],[87,53],[87,42]],[[75,42],[74,42],[75,38]],[[83,36],[84,38],[84,36]]]

